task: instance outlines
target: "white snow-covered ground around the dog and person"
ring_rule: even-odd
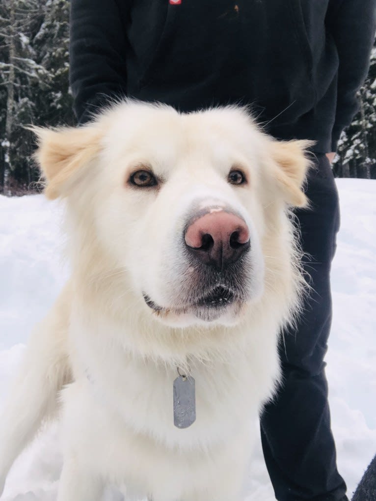
[[[351,494],[376,452],[376,181],[340,179],[342,223],[333,264],[334,319],[327,355],[338,466]],[[61,209],[41,195],[0,196],[0,408],[31,327],[67,275],[59,258]],[[27,409],[25,409],[27,412]],[[61,469],[57,427],[12,469],[2,501],[56,499]],[[271,501],[260,445],[247,501]],[[122,496],[108,494],[108,501]]]

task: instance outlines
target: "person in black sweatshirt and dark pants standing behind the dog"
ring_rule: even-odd
[[[277,139],[310,139],[310,210],[297,210],[312,293],[280,347],[283,382],[261,416],[279,501],[346,500],[325,377],[330,265],[339,225],[329,161],[358,104],[376,0],[71,0],[70,80],[78,122],[111,99],[189,112],[249,105]]]

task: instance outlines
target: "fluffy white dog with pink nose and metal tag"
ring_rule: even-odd
[[[36,132],[46,195],[66,198],[72,277],[0,420],[0,492],[60,408],[59,501],[96,501],[106,483],[238,501],[301,296],[289,207],[307,202],[309,143],[277,142],[236,107],[135,102]]]

